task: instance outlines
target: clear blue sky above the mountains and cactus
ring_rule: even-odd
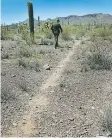
[[[92,13],[112,14],[112,0],[30,0],[34,18],[65,17]],[[18,23],[28,19],[28,0],[1,0],[1,23]]]

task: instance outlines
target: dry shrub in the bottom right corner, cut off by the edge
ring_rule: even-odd
[[[112,107],[109,106],[103,116],[102,122],[103,130],[106,131],[112,137]]]

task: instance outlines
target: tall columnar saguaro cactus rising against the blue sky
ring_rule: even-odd
[[[29,14],[29,28],[30,35],[34,39],[34,17],[33,17],[33,4],[31,2],[27,3],[28,6],[28,14]]]

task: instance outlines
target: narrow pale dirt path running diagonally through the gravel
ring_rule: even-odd
[[[40,94],[35,96],[28,104],[28,110],[24,113],[24,116],[18,123],[15,124],[13,128],[9,130],[7,133],[8,136],[32,136],[36,133],[37,129],[35,124],[34,114],[36,112],[42,112],[47,109],[50,105],[49,97],[47,97],[47,92],[49,87],[55,87],[58,84],[58,81],[66,68],[67,63],[71,60],[71,57],[74,54],[75,48],[80,44],[80,40],[75,42],[75,46],[69,51],[66,55],[66,58],[61,60],[58,64],[57,68],[54,69],[53,74],[49,76],[49,78],[43,82]]]

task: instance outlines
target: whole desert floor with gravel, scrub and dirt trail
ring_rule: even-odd
[[[1,28],[2,136],[112,136],[112,26],[42,28]]]

